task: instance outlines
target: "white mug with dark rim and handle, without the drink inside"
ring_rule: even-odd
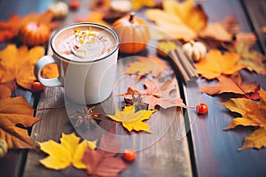
[[[59,53],[57,45],[64,36],[73,33],[76,28],[89,28],[105,32],[113,39],[113,48],[105,56],[93,61],[74,61]],[[44,56],[35,64],[35,77],[48,87],[64,86],[65,94],[78,104],[98,104],[111,95],[114,85],[119,39],[109,28],[95,23],[76,23],[59,29],[51,37],[52,56]],[[45,65],[57,64],[59,78],[44,79],[41,76]]]

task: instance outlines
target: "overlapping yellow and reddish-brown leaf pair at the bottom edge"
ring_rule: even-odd
[[[60,143],[49,140],[39,142],[40,150],[49,156],[40,160],[45,167],[60,170],[70,165],[77,169],[86,169],[93,176],[117,176],[129,164],[117,157],[121,150],[113,134],[102,135],[98,147],[97,141],[88,142],[74,135],[62,134]]]

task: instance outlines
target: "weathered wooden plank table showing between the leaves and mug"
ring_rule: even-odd
[[[2,0],[0,1],[0,18],[7,19],[14,12],[20,15],[32,11],[43,12],[51,2],[51,0]],[[87,16],[88,2],[81,0],[81,4],[83,5],[79,11],[70,12],[64,24],[74,22],[76,16]],[[242,30],[256,32],[259,39],[257,50],[265,52],[266,36],[260,31],[260,27],[266,25],[266,2],[264,0],[206,0],[201,4],[210,21],[222,20],[229,15],[237,17]],[[141,12],[138,15],[141,15]],[[3,47],[4,44],[1,44],[1,48]],[[118,62],[117,74],[119,76],[127,65],[127,62]],[[263,89],[266,89],[266,77],[246,71],[241,71],[241,76],[244,81],[257,81]],[[133,78],[122,82],[119,89],[125,89],[128,85],[134,84]],[[137,151],[137,159],[121,173],[121,176],[266,175],[266,149],[238,151],[244,137],[250,134],[253,128],[238,127],[231,131],[223,131],[223,127],[230,123],[232,115],[222,105],[215,102],[226,100],[226,98],[208,96],[199,92],[202,85],[212,83],[200,79],[192,84],[184,85],[179,81],[179,94],[185,103],[195,105],[199,101],[205,102],[209,107],[208,113],[198,116],[194,110],[178,109],[162,112],[156,119],[157,122],[153,128],[157,128],[156,131],[159,132],[167,131],[151,146]],[[39,110],[65,103],[64,89],[60,87],[46,88],[40,96],[34,96],[24,89],[19,89],[18,94],[25,96],[27,101]],[[30,130],[31,137],[37,142],[50,139],[59,142],[62,133],[72,133],[74,127],[68,119],[66,109],[68,109],[67,106],[62,106],[58,109],[36,111],[35,116],[41,117],[42,120]],[[104,103],[96,105],[98,112],[112,114],[113,109],[113,96]],[[174,116],[173,112],[175,112]],[[102,124],[104,127],[110,127],[112,122],[105,120]],[[168,128],[164,129],[165,127],[160,126],[162,124],[168,124]],[[123,134],[120,126],[115,128]],[[142,138],[133,138],[132,142],[122,142],[122,147],[126,147],[127,143],[134,144],[146,140],[145,137]],[[39,150],[9,150],[8,155],[0,159],[1,176],[85,175],[84,171],[76,170],[74,167],[61,171],[46,169],[39,163],[39,159],[45,156]]]

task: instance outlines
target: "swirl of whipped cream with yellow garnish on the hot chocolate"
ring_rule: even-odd
[[[79,28],[74,30],[74,37],[67,42],[68,48],[77,58],[100,58],[112,49],[111,40],[103,33]]]

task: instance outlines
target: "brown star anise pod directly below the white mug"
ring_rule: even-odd
[[[85,124],[85,127],[87,129],[90,129],[90,123],[92,123],[94,126],[97,126],[97,121],[96,120],[101,120],[99,117],[102,115],[101,113],[94,113],[94,108],[91,107],[88,110],[85,108],[81,110],[77,110],[75,114],[71,115],[71,119],[77,119],[75,123],[75,127],[80,127],[82,123]]]

